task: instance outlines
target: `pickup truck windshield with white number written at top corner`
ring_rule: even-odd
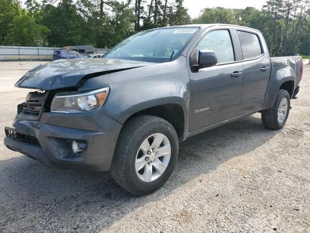
[[[144,62],[169,62],[179,56],[198,29],[196,27],[166,28],[140,32],[109,50],[104,57]]]

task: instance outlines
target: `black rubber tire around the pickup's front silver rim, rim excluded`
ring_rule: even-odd
[[[164,134],[171,145],[171,157],[166,170],[156,180],[143,182],[136,173],[136,155],[142,142],[154,133]],[[179,141],[172,125],[156,116],[137,116],[124,124],[119,135],[110,172],[121,187],[134,195],[147,195],[160,188],[171,176],[177,162]]]

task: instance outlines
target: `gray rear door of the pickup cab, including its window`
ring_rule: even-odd
[[[240,103],[240,115],[243,115],[262,108],[271,65],[268,50],[262,44],[262,34],[247,30],[235,32],[243,56],[244,81]]]

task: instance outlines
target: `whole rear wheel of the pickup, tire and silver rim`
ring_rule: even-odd
[[[279,90],[271,110],[262,112],[262,122],[267,128],[281,129],[290,113],[290,95],[286,90]]]

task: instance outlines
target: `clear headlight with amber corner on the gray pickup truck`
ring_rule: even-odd
[[[57,93],[52,101],[51,112],[79,113],[93,111],[107,99],[109,87],[87,92]]]

